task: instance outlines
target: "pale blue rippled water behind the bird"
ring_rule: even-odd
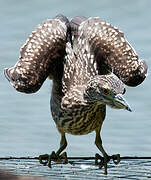
[[[62,13],[99,16],[119,27],[141,59],[151,66],[150,0],[1,0],[0,1],[0,157],[37,156],[57,150],[60,135],[49,102],[52,82],[46,80],[35,94],[16,92],[3,75],[14,65],[20,47],[43,20]],[[125,98],[133,112],[107,109],[102,139],[109,154],[151,156],[151,75]],[[70,156],[93,156],[95,133],[67,135]]]

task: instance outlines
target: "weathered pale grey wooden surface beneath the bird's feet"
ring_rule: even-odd
[[[75,160],[68,164],[52,163],[52,168],[43,166],[37,159],[0,160],[0,169],[21,177],[42,179],[150,179],[151,160],[121,160],[119,165],[108,164],[108,175],[104,169],[94,165],[94,160]]]

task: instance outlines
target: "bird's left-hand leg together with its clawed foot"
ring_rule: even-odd
[[[50,167],[50,168],[51,168],[52,160],[57,163],[61,163],[62,159],[64,159],[64,163],[68,163],[67,153],[64,152],[61,154],[61,152],[67,147],[67,140],[65,137],[65,133],[60,130],[59,130],[59,132],[61,133],[61,141],[60,141],[60,148],[58,149],[58,151],[56,153],[53,151],[50,155],[44,154],[44,155],[39,156],[40,163],[43,165],[48,164],[48,167]]]

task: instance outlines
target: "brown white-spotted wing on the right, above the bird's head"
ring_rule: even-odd
[[[104,69],[110,70],[128,86],[137,86],[145,79],[145,61],[139,60],[116,27],[100,18],[89,18],[81,22],[76,37],[78,48],[81,52],[83,49],[82,56],[97,62],[99,74],[103,74]]]

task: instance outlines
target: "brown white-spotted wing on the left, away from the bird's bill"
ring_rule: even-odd
[[[56,74],[59,68],[61,76],[68,23],[65,16],[58,15],[44,21],[32,32],[20,50],[19,61],[14,67],[4,70],[16,90],[36,92],[48,75],[52,79],[59,76]]]

